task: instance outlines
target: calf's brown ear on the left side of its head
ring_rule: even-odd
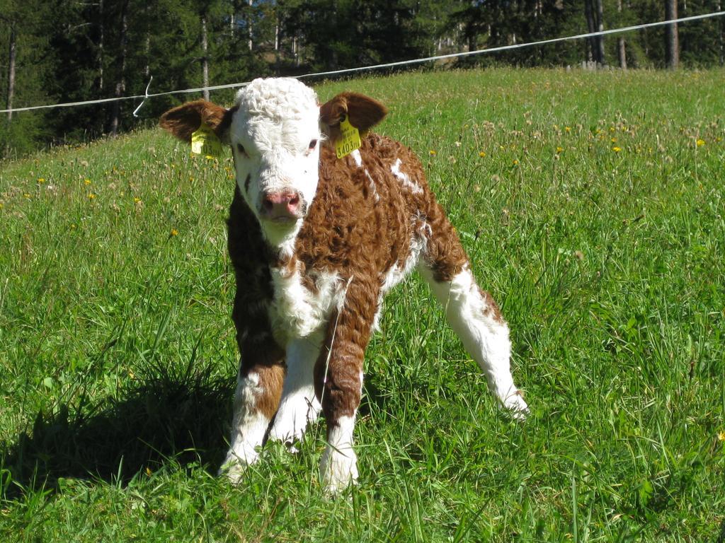
[[[206,100],[196,100],[169,109],[159,119],[159,126],[189,143],[191,134],[199,130],[203,122],[214,130],[220,140],[229,143],[228,132],[234,111],[236,107],[225,109]]]

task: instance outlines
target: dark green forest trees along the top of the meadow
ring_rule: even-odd
[[[0,0],[3,109],[473,51],[721,11],[722,0]],[[464,57],[445,66],[724,63],[725,17]],[[441,64],[438,65],[439,67]],[[232,90],[218,91],[229,101]],[[0,117],[0,154],[116,135],[181,98]]]

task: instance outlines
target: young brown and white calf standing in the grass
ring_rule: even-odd
[[[231,109],[194,101],[161,118],[186,141],[206,123],[234,157],[228,248],[241,360],[222,467],[233,482],[265,439],[291,444],[320,408],[323,484],[337,492],[357,479],[352,434],[365,348],[385,292],[416,267],[500,403],[518,417],[527,411],[511,376],[508,327],[476,285],[418,159],[373,133],[336,158],[344,118],[365,132],[386,113],[356,93],[320,106],[311,88],[281,78],[254,80]]]

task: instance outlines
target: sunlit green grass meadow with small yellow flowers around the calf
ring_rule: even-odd
[[[1,164],[0,541],[725,540],[725,94],[712,72],[318,86],[392,111],[510,322],[497,409],[417,277],[386,300],[360,484],[324,425],[215,476],[236,373],[231,158],[160,130]]]

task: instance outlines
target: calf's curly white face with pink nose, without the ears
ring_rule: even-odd
[[[320,110],[315,92],[288,78],[239,91],[228,139],[239,192],[272,245],[294,238],[318,185]]]

